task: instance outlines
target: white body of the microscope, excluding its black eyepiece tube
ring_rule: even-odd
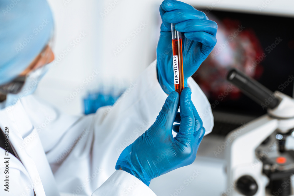
[[[279,146],[275,135],[288,133],[294,128],[293,98],[278,91],[274,95],[280,100],[276,108],[268,109],[268,114],[243,126],[240,133],[234,134],[238,129],[233,130],[225,140],[231,141],[225,149],[228,175],[228,189],[225,190],[227,195],[267,195],[266,187],[270,179],[264,173],[263,162],[265,158],[274,157],[278,153]],[[265,145],[262,144],[267,139],[270,141],[267,141]]]

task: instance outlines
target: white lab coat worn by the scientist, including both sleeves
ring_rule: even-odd
[[[191,78],[188,86],[207,134],[213,127],[210,104]],[[18,157],[9,155],[6,192],[7,156],[0,148],[0,195],[155,195],[133,175],[115,171],[115,164],[122,150],[156,120],[166,98],[152,63],[113,107],[95,114],[66,115],[34,96],[0,110],[0,127],[9,128],[9,142]]]

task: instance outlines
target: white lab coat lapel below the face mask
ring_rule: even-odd
[[[58,196],[56,182],[39,135],[26,115],[20,100],[11,107],[0,110],[0,117],[0,127],[8,127],[10,130],[9,142],[17,158],[26,168],[31,180],[39,182],[33,187],[36,195],[45,196],[46,190],[46,195]]]

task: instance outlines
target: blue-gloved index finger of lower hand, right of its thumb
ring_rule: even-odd
[[[180,96],[181,124],[175,139],[181,143],[191,143],[193,140],[195,119],[192,110],[191,90],[185,87]]]

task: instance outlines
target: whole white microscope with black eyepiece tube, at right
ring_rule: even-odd
[[[286,143],[294,136],[294,99],[279,91],[273,93],[236,69],[230,70],[227,80],[266,109],[267,114],[227,135],[228,178],[223,195],[292,195],[294,151],[287,149]],[[234,134],[236,131],[238,134]]]

